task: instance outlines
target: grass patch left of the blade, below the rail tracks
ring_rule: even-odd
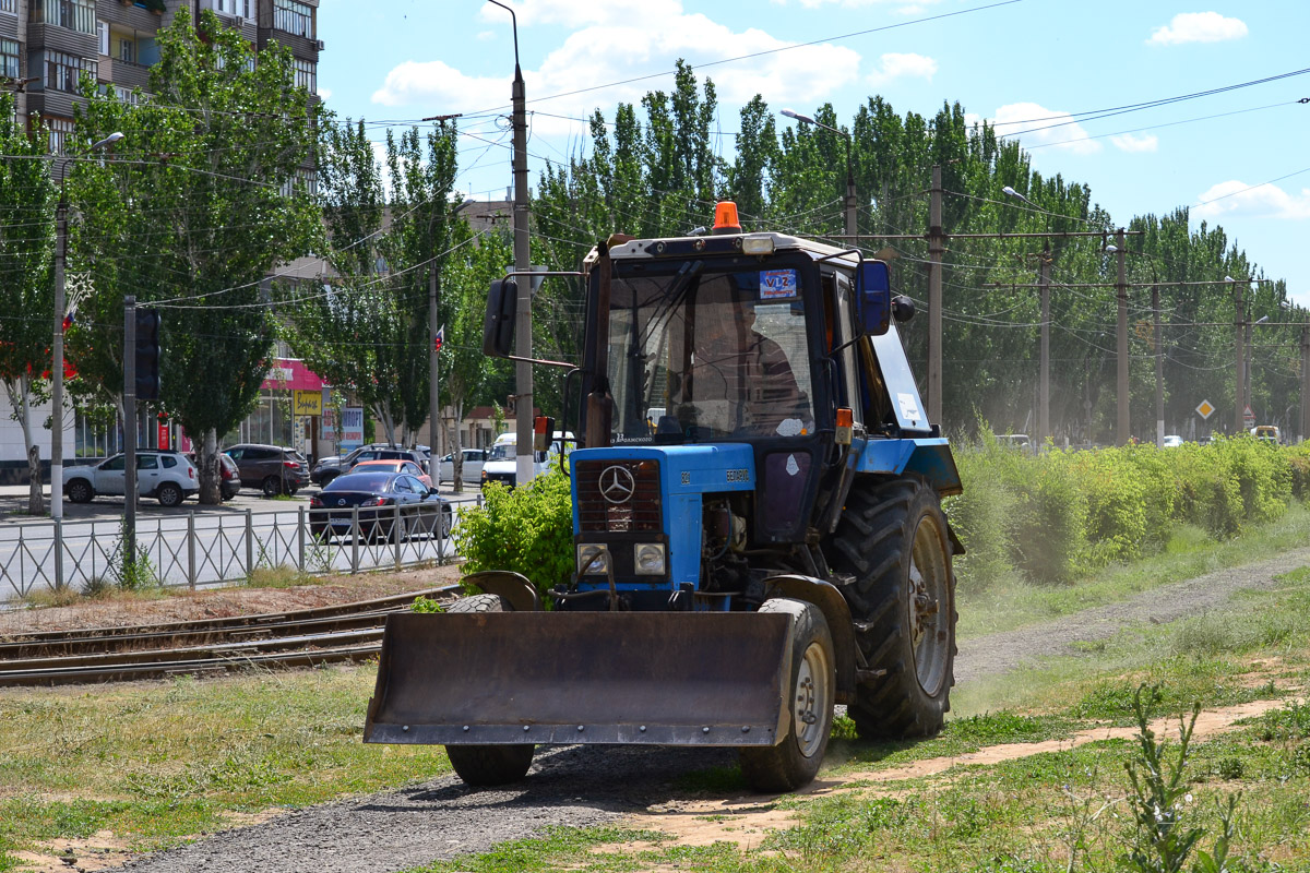
[[[448,772],[438,746],[360,742],[373,677],[352,666],[0,691],[0,849],[98,830],[155,848],[228,811]]]

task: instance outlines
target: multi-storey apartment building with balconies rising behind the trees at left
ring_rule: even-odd
[[[148,92],[155,35],[182,7],[193,18],[212,9],[258,48],[291,48],[296,82],[317,90],[318,0],[0,0],[0,79],[17,93],[18,118],[39,114],[62,151],[83,71],[124,99]]]

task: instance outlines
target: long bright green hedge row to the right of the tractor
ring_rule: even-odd
[[[955,461],[964,493],[946,510],[968,550],[959,569],[984,585],[1010,567],[1066,582],[1159,550],[1179,525],[1226,538],[1310,499],[1310,445],[1246,436],[1032,455],[984,433]]]

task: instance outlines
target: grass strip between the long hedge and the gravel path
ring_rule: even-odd
[[[1199,527],[1175,531],[1159,554],[1131,564],[1114,564],[1070,585],[1034,585],[1017,573],[972,592],[959,580],[960,639],[1013,631],[1093,606],[1127,599],[1133,594],[1241,567],[1310,543],[1310,508],[1293,501],[1277,521],[1252,525],[1242,537],[1216,542]]]

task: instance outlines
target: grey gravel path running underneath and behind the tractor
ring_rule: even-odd
[[[1074,654],[1069,643],[1100,640],[1144,620],[1167,623],[1221,606],[1239,589],[1271,588],[1273,577],[1310,563],[1310,548],[1207,573],[1132,599],[960,645],[963,685],[1041,657]],[[538,750],[528,779],[506,791],[470,791],[453,776],[398,792],[314,806],[263,825],[225,831],[130,863],[148,873],[390,873],[483,852],[550,825],[610,822],[672,800],[671,776],[731,766],[730,749],[571,746]]]

